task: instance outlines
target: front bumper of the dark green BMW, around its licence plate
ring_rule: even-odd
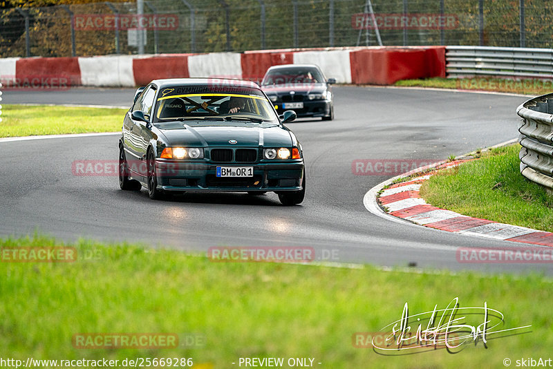
[[[216,177],[217,167],[253,167],[253,177]],[[214,164],[156,160],[158,187],[164,191],[299,191],[303,160],[255,164]]]

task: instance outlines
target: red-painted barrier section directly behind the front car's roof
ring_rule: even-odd
[[[133,59],[135,84],[144,86],[153,79],[189,77],[188,56],[189,54],[156,55]]]

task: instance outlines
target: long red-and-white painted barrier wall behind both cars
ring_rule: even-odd
[[[0,79],[71,77],[71,86],[134,87],[152,79],[217,77],[261,81],[279,64],[317,64],[346,84],[393,84],[399,79],[444,77],[445,48],[317,48],[175,55],[0,59]]]

